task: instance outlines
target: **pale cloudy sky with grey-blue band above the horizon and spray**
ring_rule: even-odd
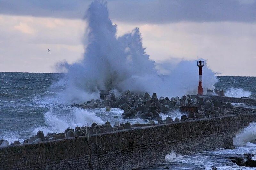
[[[91,2],[0,0],[0,72],[56,72],[81,59]],[[220,75],[256,76],[256,0],[107,2],[117,36],[138,27],[158,67],[204,58]]]

